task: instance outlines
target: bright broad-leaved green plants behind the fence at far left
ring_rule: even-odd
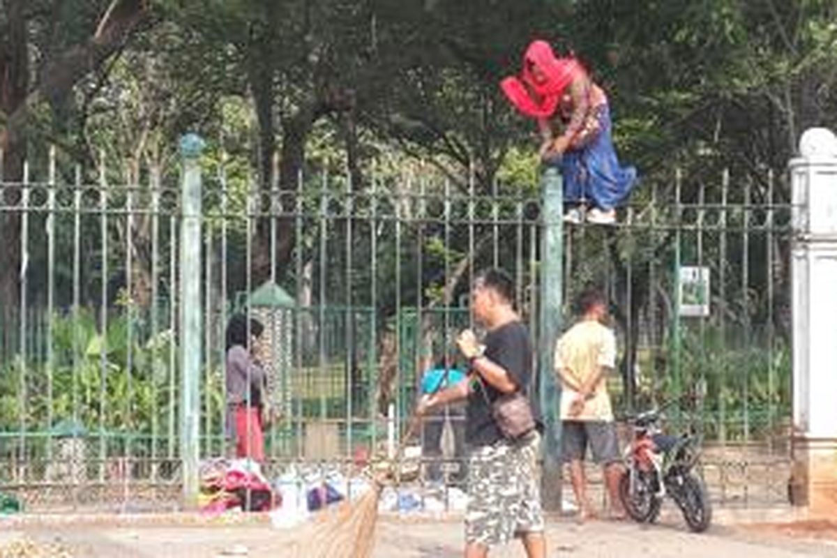
[[[50,417],[53,424],[77,419],[89,431],[105,433],[150,434],[164,423],[176,401],[167,386],[176,372],[169,366],[177,349],[170,330],[146,337],[136,317],[119,315],[108,320],[102,335],[94,317],[82,310],[77,317],[55,315],[52,331],[51,366],[44,358],[20,356],[4,366],[0,431],[25,425],[45,432]]]

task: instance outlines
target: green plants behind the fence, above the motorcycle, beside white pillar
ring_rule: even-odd
[[[713,441],[782,435],[792,401],[790,346],[767,330],[741,332],[736,324],[682,323],[678,346],[670,330],[664,349],[640,352],[638,407],[675,402],[668,417],[691,417]]]

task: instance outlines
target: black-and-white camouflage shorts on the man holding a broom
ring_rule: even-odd
[[[475,448],[470,455],[465,540],[502,545],[515,535],[543,530],[540,474],[541,437]]]

